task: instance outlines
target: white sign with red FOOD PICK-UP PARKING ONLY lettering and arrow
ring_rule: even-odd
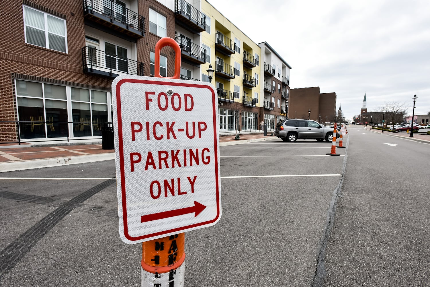
[[[120,236],[128,244],[221,217],[218,98],[205,82],[123,75],[112,83]]]

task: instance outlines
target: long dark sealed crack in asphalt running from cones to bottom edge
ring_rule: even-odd
[[[332,227],[335,222],[335,213],[336,213],[336,207],[338,204],[338,197],[341,193],[342,184],[344,182],[345,178],[345,169],[347,166],[347,158],[348,158],[348,145],[349,144],[349,136],[346,143],[345,148],[345,157],[344,157],[344,163],[342,167],[342,177],[339,181],[338,186],[333,190],[333,196],[332,201],[330,202],[329,210],[327,211],[327,223],[326,228],[324,231],[324,234],[321,238],[321,248],[319,249],[318,256],[316,257],[316,270],[315,275],[312,278],[312,284],[311,287],[322,287],[323,286],[323,279],[326,276],[326,265],[325,265],[325,259],[326,259],[326,248],[327,244],[330,238],[330,234],[332,232]]]

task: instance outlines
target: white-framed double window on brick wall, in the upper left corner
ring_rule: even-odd
[[[66,21],[23,6],[25,43],[67,53]]]

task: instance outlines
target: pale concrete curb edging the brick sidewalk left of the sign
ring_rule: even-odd
[[[31,170],[41,167],[58,167],[70,164],[83,164],[102,160],[115,159],[115,153],[78,155],[74,157],[56,157],[41,160],[20,160],[0,164],[0,173],[16,170]]]

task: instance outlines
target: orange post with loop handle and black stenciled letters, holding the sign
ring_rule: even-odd
[[[175,74],[160,75],[160,52],[165,46],[175,50]],[[164,37],[155,45],[154,76],[179,79],[181,47],[172,38]],[[141,287],[183,287],[185,275],[185,233],[142,242]]]

